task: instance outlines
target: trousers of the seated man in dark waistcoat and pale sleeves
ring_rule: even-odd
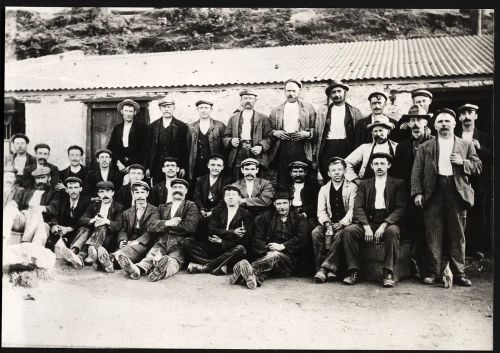
[[[326,235],[326,227],[319,225],[311,233],[316,271],[325,268],[337,272],[342,251],[342,232],[340,229],[332,235]]]

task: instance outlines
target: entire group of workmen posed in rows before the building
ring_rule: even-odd
[[[380,242],[382,283],[393,287],[403,237],[423,283],[438,283],[449,265],[455,283],[470,286],[467,213],[487,213],[481,185],[491,184],[491,138],[475,129],[479,108],[431,114],[433,95],[419,89],[396,121],[384,115],[387,95],[373,92],[363,117],[346,103],[349,86],[333,81],[331,103],[316,113],[301,89],[286,81],[286,101],[269,117],[255,110],[257,94],[243,90],[227,125],[211,117],[208,100],[196,102],[199,120],[186,125],[167,96],[161,118],[146,126],[134,119],[139,104],[126,99],[93,170],[81,164],[80,146],[67,149],[70,166],[59,171],[48,162],[50,146],[37,144],[31,156],[29,138],[12,136],[4,241],[20,232],[78,269],[158,281],[187,267],[254,289],[297,273],[355,284],[361,247]]]

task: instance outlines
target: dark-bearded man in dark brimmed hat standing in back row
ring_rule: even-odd
[[[314,157],[319,166],[318,180],[327,179],[332,157],[345,158],[354,151],[354,126],[363,115],[358,108],[346,103],[348,91],[348,85],[335,80],[325,90],[332,103],[323,106],[316,118]]]

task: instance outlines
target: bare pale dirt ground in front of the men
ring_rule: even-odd
[[[253,291],[185,271],[150,283],[58,262],[51,276],[33,288],[4,276],[3,347],[493,348],[491,273],[471,288],[289,278]]]

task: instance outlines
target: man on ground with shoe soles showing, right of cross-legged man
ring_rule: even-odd
[[[288,191],[276,192],[273,209],[255,219],[252,248],[257,260],[234,265],[230,284],[243,279],[249,289],[255,289],[270,275],[288,277],[294,272],[306,243],[307,220],[290,210],[291,198]]]

